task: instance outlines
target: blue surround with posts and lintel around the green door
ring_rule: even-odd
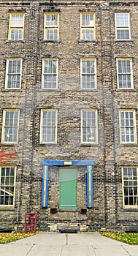
[[[93,160],[42,160],[42,207],[48,207],[48,167],[49,166],[86,166],[87,208],[93,207]]]

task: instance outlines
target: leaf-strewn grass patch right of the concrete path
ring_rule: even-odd
[[[138,233],[99,232],[102,236],[113,238],[126,244],[138,245]]]

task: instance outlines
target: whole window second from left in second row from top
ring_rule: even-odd
[[[57,89],[58,59],[42,60],[42,89]]]

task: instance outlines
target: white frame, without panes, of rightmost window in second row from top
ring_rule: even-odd
[[[119,73],[118,71],[118,61],[129,61],[130,63],[130,72],[122,72]],[[123,90],[130,90],[130,89],[134,89],[134,81],[133,81],[133,69],[132,69],[132,59],[127,58],[127,59],[121,59],[118,58],[116,60],[116,64],[117,64],[117,80],[118,80],[118,89],[123,89]],[[130,81],[131,81],[131,87],[120,87],[119,85],[119,75],[121,75],[123,77],[123,75],[130,75]],[[125,80],[127,82],[127,80]]]

